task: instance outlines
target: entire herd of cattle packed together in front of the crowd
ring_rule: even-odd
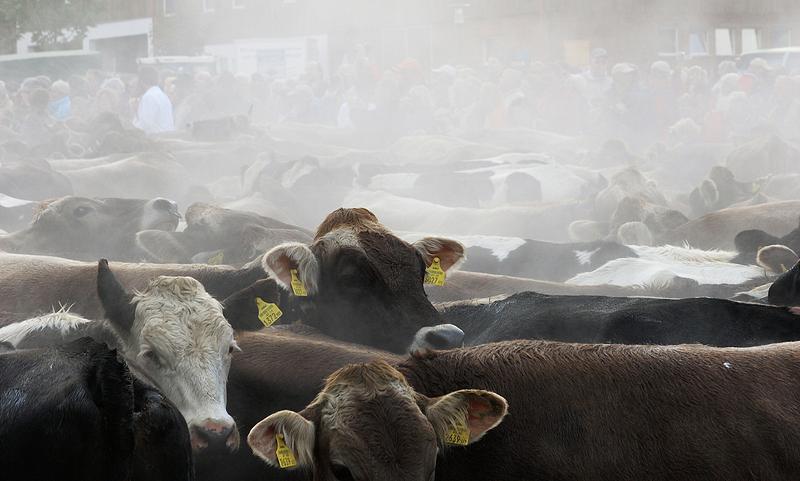
[[[800,478],[779,138],[111,139],[0,164],[9,479]]]

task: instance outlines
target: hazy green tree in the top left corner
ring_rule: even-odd
[[[86,29],[104,10],[102,0],[0,0],[0,44],[8,50],[31,32],[40,50],[80,48]]]

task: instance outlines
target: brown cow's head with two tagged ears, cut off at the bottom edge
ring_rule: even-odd
[[[247,442],[273,466],[313,469],[315,481],[430,481],[448,440],[478,441],[507,409],[505,399],[489,391],[428,398],[375,361],[335,372],[306,409],[267,417]],[[285,462],[285,449],[276,452],[283,445],[296,466]]]

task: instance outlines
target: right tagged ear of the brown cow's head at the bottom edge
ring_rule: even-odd
[[[429,400],[426,415],[445,444],[472,444],[508,412],[506,400],[491,391],[463,389]],[[455,435],[454,435],[455,434]],[[456,441],[453,442],[453,438]]]

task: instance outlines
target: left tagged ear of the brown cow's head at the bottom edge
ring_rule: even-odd
[[[247,435],[253,454],[276,468],[310,469],[314,442],[314,423],[294,411],[278,411],[264,418]]]

